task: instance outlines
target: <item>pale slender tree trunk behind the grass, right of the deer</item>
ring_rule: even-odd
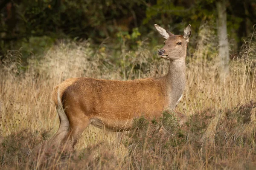
[[[219,51],[218,56],[220,58],[220,77],[225,79],[229,74],[228,62],[229,62],[229,46],[227,39],[227,11],[226,0],[219,0],[216,2],[218,18],[218,42]]]

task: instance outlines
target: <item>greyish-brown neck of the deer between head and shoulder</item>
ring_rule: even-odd
[[[185,89],[185,69],[185,59],[173,59],[170,61],[169,71],[164,77],[166,79],[168,109],[175,109],[177,101]]]

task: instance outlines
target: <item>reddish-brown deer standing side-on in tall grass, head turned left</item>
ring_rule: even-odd
[[[166,39],[157,53],[170,61],[168,73],[159,78],[127,81],[78,77],[61,82],[51,95],[60,120],[53,142],[69,143],[74,148],[89,125],[128,131],[136,117],[157,119],[163,111],[175,110],[186,85],[185,59],[191,25],[184,29],[183,35],[154,26]],[[186,119],[182,113],[180,117]]]

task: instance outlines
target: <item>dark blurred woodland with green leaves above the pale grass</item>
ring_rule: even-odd
[[[64,39],[109,48],[123,40],[127,48],[145,40],[155,46],[160,40],[155,23],[174,34],[191,24],[193,39],[202,24],[210,22],[216,35],[218,27],[226,27],[232,55],[256,23],[255,0],[0,0],[0,12],[1,60],[8,50],[20,49],[23,61]],[[218,19],[226,20],[224,25]]]

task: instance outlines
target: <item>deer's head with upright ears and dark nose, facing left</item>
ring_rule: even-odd
[[[163,48],[158,50],[158,55],[164,59],[185,59],[187,43],[191,35],[191,25],[189,24],[184,29],[183,35],[174,35],[157,24],[154,26],[162,37],[166,39]]]

